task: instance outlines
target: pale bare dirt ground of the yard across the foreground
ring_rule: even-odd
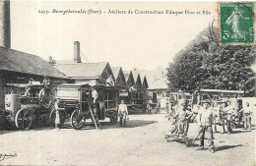
[[[169,122],[165,116],[164,111],[132,114],[127,128],[110,125],[106,119],[101,131],[93,126],[75,131],[68,124],[61,130],[0,131],[0,164],[255,165],[255,127],[251,132],[240,128],[231,135],[214,134],[216,152],[211,153],[208,149],[196,150],[198,140],[190,147],[178,140],[166,142],[163,136]],[[195,138],[197,129],[196,124],[190,124],[188,137]],[[221,127],[218,129],[221,131]]]

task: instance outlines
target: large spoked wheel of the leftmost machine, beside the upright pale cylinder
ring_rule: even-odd
[[[21,109],[15,117],[15,125],[20,130],[29,130],[32,127],[32,110]]]

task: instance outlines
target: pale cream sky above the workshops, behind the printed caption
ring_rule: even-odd
[[[165,68],[216,17],[217,2],[83,2],[11,1],[12,49],[38,55],[44,60],[73,59],[74,41],[91,62],[109,62],[124,70]],[[90,10],[101,15],[56,14],[53,10]],[[48,10],[41,14],[39,10]],[[109,10],[126,14],[108,14]],[[127,14],[127,11],[183,12]],[[201,15],[184,14],[201,12]],[[202,11],[211,12],[203,15]],[[82,61],[87,62],[82,56]]]

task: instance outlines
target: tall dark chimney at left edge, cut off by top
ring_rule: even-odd
[[[0,46],[11,48],[10,0],[0,1]]]

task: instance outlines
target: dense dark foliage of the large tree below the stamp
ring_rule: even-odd
[[[217,31],[217,29],[215,29]],[[220,45],[209,30],[203,30],[167,67],[170,88],[200,87],[245,90],[252,93],[256,49],[252,45]]]

